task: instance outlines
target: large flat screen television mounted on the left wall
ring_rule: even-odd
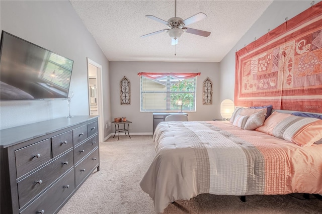
[[[73,60],[2,31],[0,100],[66,99]]]

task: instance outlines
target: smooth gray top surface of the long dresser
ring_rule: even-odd
[[[6,148],[15,144],[44,136],[68,127],[84,123],[98,116],[74,116],[72,118],[57,118],[23,126],[0,130],[0,148]]]

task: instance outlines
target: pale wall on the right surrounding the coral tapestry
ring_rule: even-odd
[[[320,1],[315,1],[315,4]],[[234,99],[235,52],[308,9],[311,1],[274,1],[220,62],[220,100]]]

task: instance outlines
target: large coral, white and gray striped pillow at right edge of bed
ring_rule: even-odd
[[[272,135],[299,146],[311,146],[322,138],[321,127],[322,120],[291,116],[279,122]]]

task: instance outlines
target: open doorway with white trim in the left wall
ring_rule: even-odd
[[[87,58],[88,91],[89,91],[89,114],[99,116],[99,141],[104,139],[104,115],[102,93],[102,65]]]

